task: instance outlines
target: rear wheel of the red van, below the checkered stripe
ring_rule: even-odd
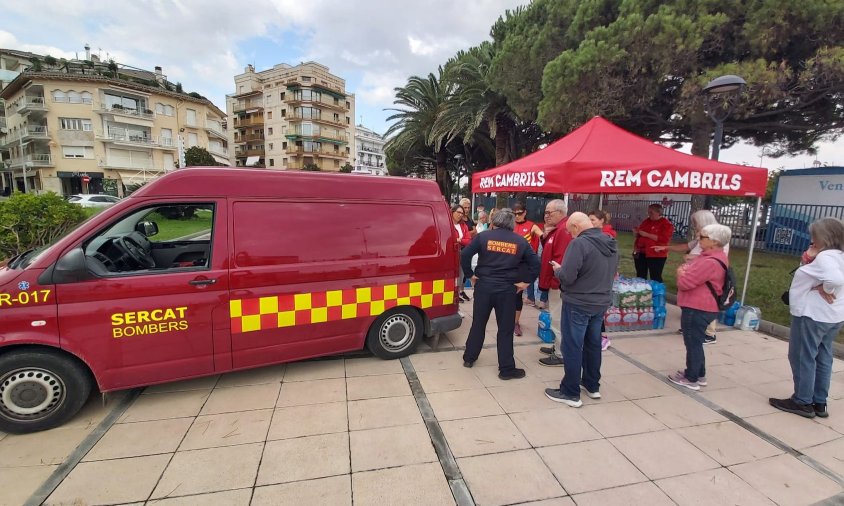
[[[406,357],[416,349],[423,330],[422,319],[412,309],[384,313],[369,329],[366,345],[383,359]]]

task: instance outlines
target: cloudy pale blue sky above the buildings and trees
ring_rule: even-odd
[[[225,110],[235,74],[251,63],[313,60],[346,80],[356,123],[383,133],[393,88],[436,71],[458,50],[489,38],[506,9],[526,0],[0,0],[0,48],[55,57],[101,58],[148,70],[159,65]],[[760,164],[760,150],[735,146],[721,160]],[[811,167],[814,156],[761,159],[767,168]],[[817,160],[844,165],[844,143],[824,143]]]

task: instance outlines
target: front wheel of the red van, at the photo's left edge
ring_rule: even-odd
[[[0,355],[0,430],[21,434],[61,425],[82,408],[91,387],[88,371],[57,353]]]

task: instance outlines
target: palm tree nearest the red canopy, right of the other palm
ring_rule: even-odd
[[[493,56],[492,44],[483,42],[458,52],[446,63],[443,79],[451,85],[452,93],[431,136],[436,141],[461,139],[464,145],[473,145],[479,134],[489,135],[495,141],[498,166],[512,160],[511,145],[519,118],[507,105],[507,99],[490,86]],[[501,197],[506,199],[506,195]]]

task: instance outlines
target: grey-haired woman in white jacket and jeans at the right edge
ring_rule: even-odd
[[[844,326],[844,223],[822,218],[809,226],[809,234],[813,244],[788,291],[788,361],[794,394],[768,401],[782,411],[813,418],[829,416],[826,398],[832,377],[832,341]]]

